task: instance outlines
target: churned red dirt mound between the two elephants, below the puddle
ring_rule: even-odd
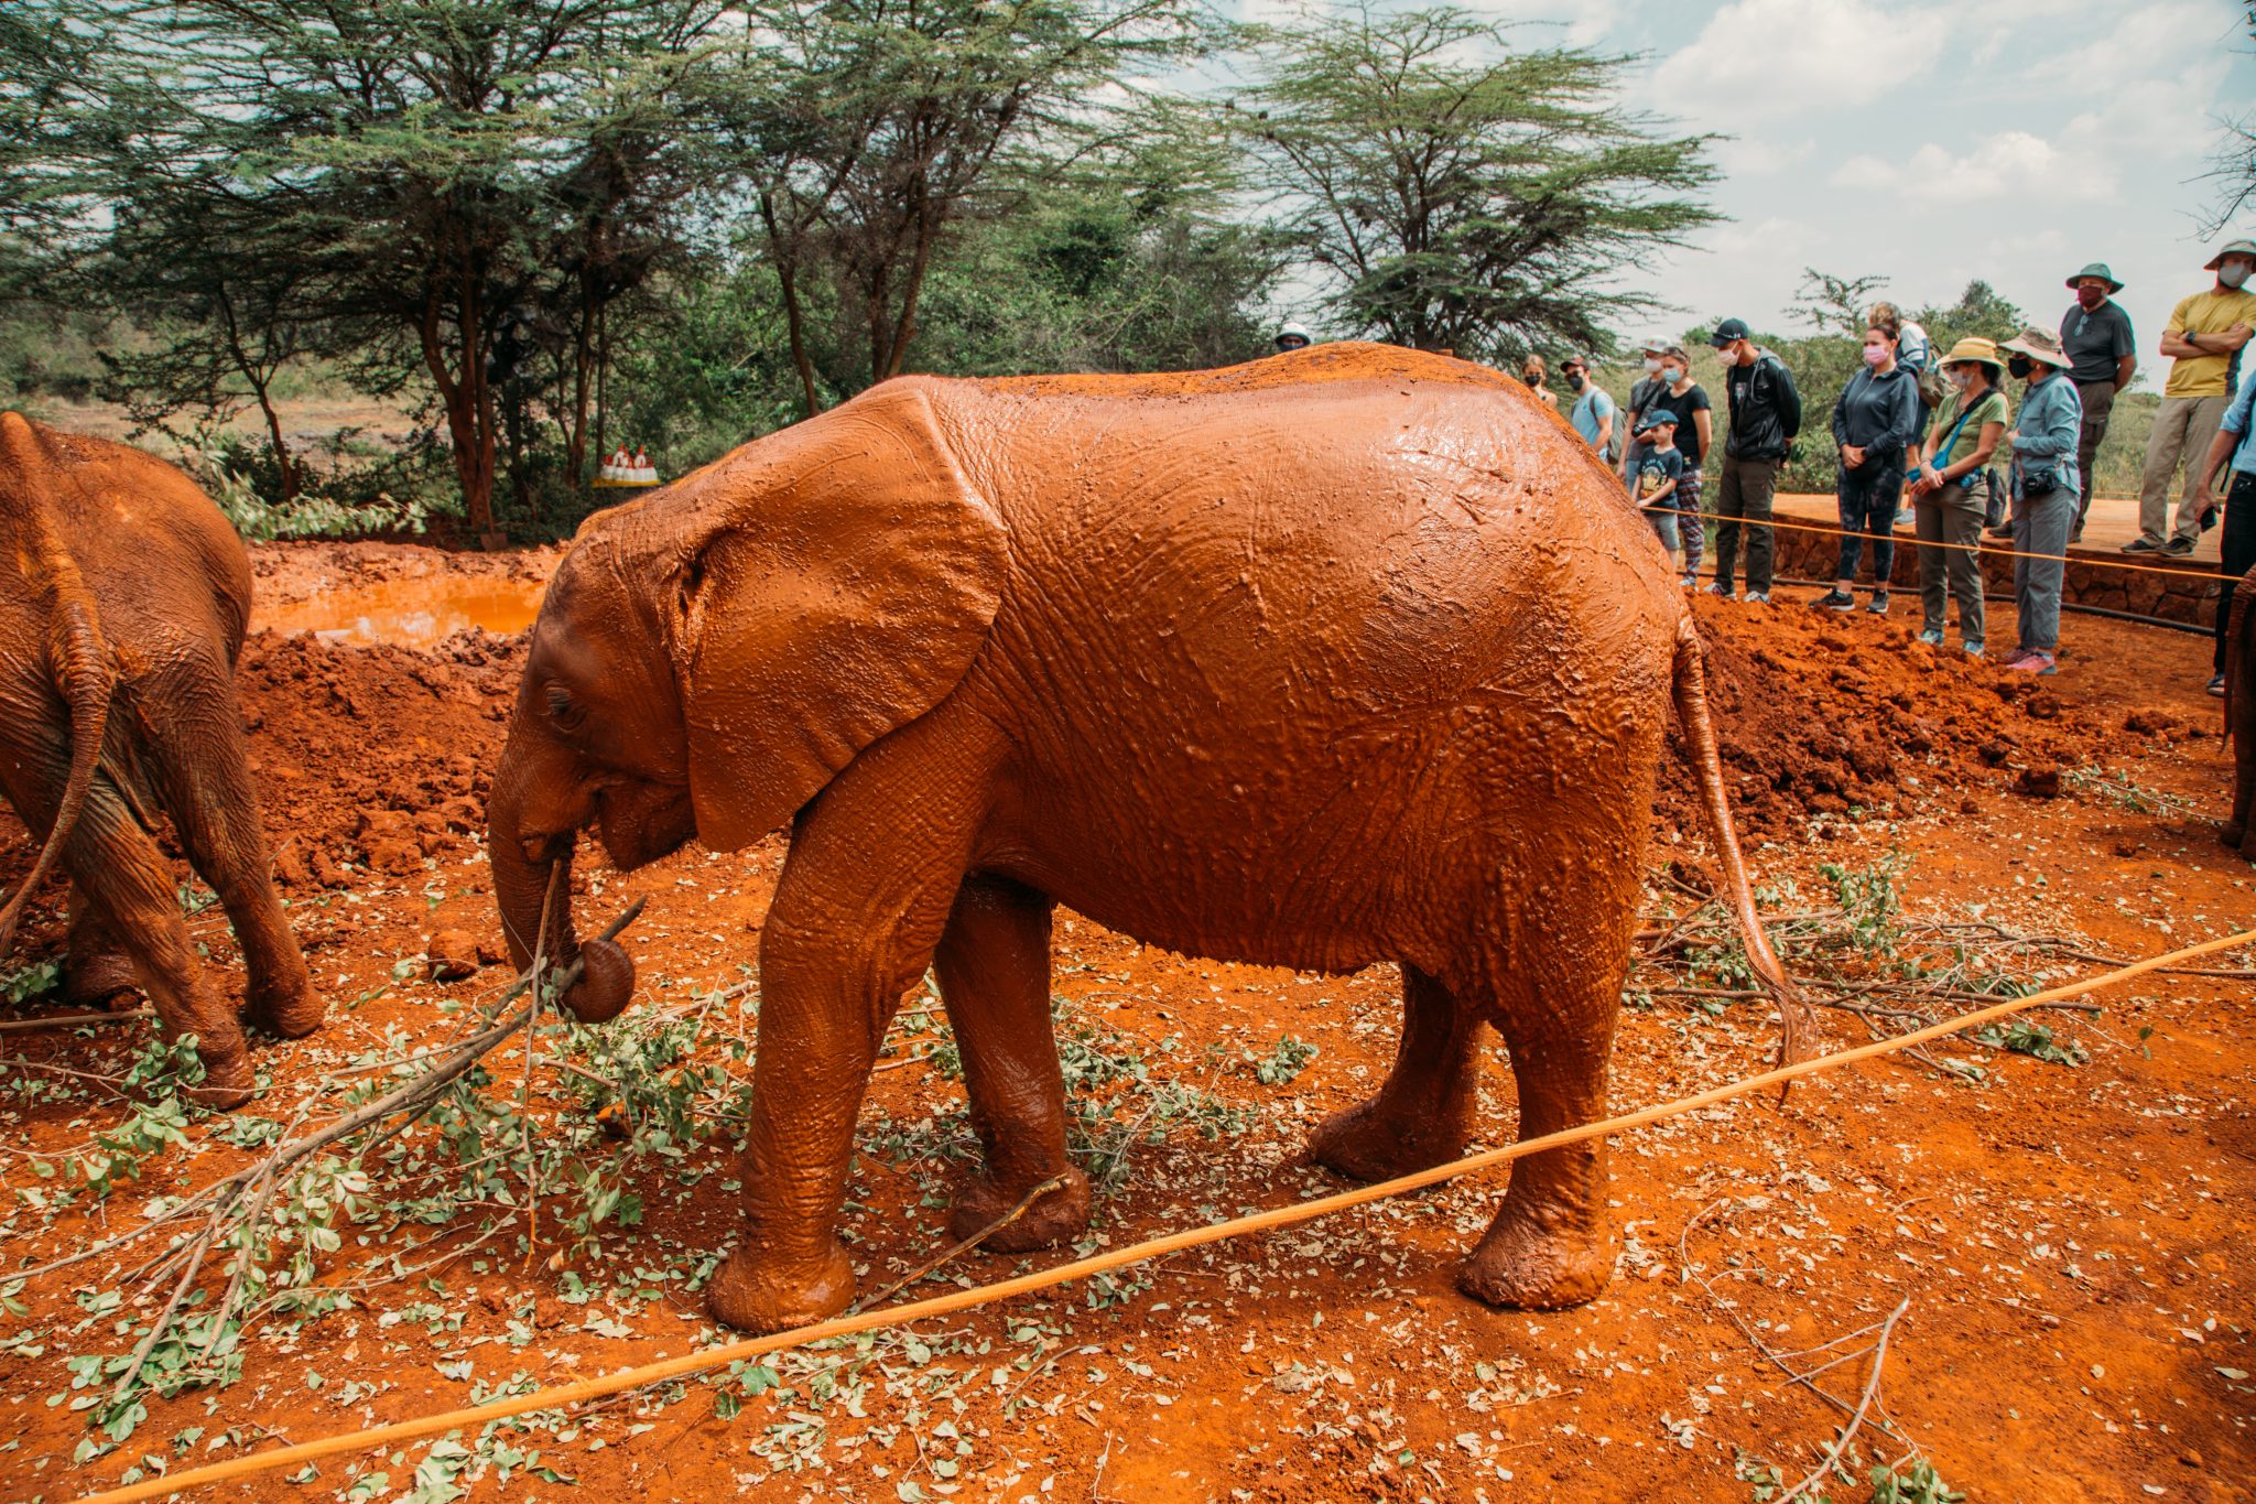
[[[523,654],[523,638],[487,631],[433,652],[255,634],[237,685],[282,886],[467,855]]]

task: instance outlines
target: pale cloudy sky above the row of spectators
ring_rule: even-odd
[[[1717,147],[1730,216],[1651,268],[1681,311],[1787,329],[1805,266],[1918,307],[1983,277],[2051,320],[2107,262],[2141,365],[2209,284],[2218,115],[2256,110],[2238,0],[1460,0],[1530,43],[1642,54],[1638,99]],[[1250,9],[1266,9],[1259,0]],[[2231,232],[2256,235],[2256,212]],[[1638,334],[1624,329],[1624,334]]]

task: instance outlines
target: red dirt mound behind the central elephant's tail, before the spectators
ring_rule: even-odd
[[[2121,735],[2042,679],[1927,647],[1893,622],[1706,595],[1694,616],[1746,841],[1800,839],[1812,816],[1897,803],[1911,780],[2057,789],[2060,767],[2098,758]],[[1674,733],[1672,746],[1681,753]],[[1681,762],[1663,764],[1654,803],[1665,825],[1701,830],[1699,787]]]

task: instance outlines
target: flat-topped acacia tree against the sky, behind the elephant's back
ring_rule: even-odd
[[[1457,7],[1272,27],[1230,101],[1318,266],[1336,322],[1421,350],[1514,359],[1604,347],[1656,307],[1615,280],[1712,223],[1710,138],[1615,97],[1629,59],[1514,47]]]

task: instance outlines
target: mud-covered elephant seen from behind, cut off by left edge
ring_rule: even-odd
[[[0,956],[61,864],[68,992],[147,990],[167,1033],[196,1035],[196,1096],[232,1107],[253,1087],[244,1028],[196,956],[151,830],[171,819],[235,922],[246,1017],[293,1037],[318,1028],[235,704],[250,559],[171,465],[16,413],[0,413],[0,789],[41,843],[0,909]]]

